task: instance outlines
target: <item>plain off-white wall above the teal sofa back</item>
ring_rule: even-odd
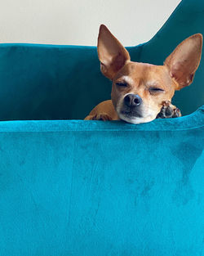
[[[1,43],[96,45],[101,23],[125,45],[148,41],[180,0],[0,0]]]

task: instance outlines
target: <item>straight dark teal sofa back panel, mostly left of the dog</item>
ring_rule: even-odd
[[[140,47],[129,47],[138,58]],[[0,44],[0,120],[84,119],[110,99],[96,47]]]

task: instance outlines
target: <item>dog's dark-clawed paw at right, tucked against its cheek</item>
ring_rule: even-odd
[[[157,115],[157,119],[171,119],[180,116],[180,109],[172,105],[170,101],[164,101],[162,109]]]

